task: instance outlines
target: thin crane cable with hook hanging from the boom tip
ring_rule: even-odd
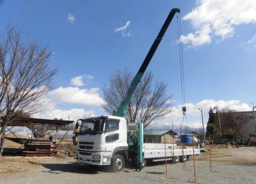
[[[180,14],[179,14],[180,15]],[[182,103],[183,103],[183,120],[181,123],[181,128],[183,126],[184,117],[187,121],[187,117],[185,116],[186,113],[186,107],[185,107],[185,82],[184,82],[184,62],[183,62],[183,44],[182,44],[182,37],[181,37],[181,20],[180,16],[177,16],[177,27],[178,27],[178,44],[179,44],[179,57],[180,57],[180,77],[181,77],[181,97],[182,97]],[[188,121],[187,121],[188,125]],[[180,134],[181,134],[181,128],[180,128]],[[190,127],[188,126],[188,129],[190,131]]]

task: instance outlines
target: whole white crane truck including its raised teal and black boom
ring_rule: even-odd
[[[171,9],[114,116],[78,120],[81,121],[76,150],[76,159],[79,163],[111,165],[114,171],[119,172],[127,161],[134,161],[136,169],[141,170],[146,165],[146,160],[155,162],[166,158],[177,163],[180,160],[185,162],[193,155],[193,150],[194,155],[199,155],[199,147],[185,146],[181,149],[177,144],[143,143],[143,124],[127,123],[124,119],[126,106],[176,12],[180,12],[180,9]]]

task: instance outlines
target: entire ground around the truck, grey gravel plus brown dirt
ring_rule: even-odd
[[[255,183],[256,147],[213,149],[212,171],[209,152],[196,156],[196,176],[200,183]],[[191,157],[192,159],[193,157]],[[75,162],[72,157],[6,157],[0,159],[0,183],[187,183],[194,181],[193,160],[168,164],[148,164],[141,172],[132,172],[132,166],[111,172],[109,166],[89,166]]]

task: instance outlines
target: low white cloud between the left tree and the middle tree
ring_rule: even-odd
[[[80,89],[78,87],[59,87],[49,92],[49,98],[55,103],[81,104],[84,106],[101,106],[99,88]]]

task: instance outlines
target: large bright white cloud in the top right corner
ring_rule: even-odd
[[[198,47],[212,42],[212,36],[233,37],[235,25],[256,23],[255,0],[200,0],[183,19],[191,21],[195,32],[182,35],[184,44]]]

